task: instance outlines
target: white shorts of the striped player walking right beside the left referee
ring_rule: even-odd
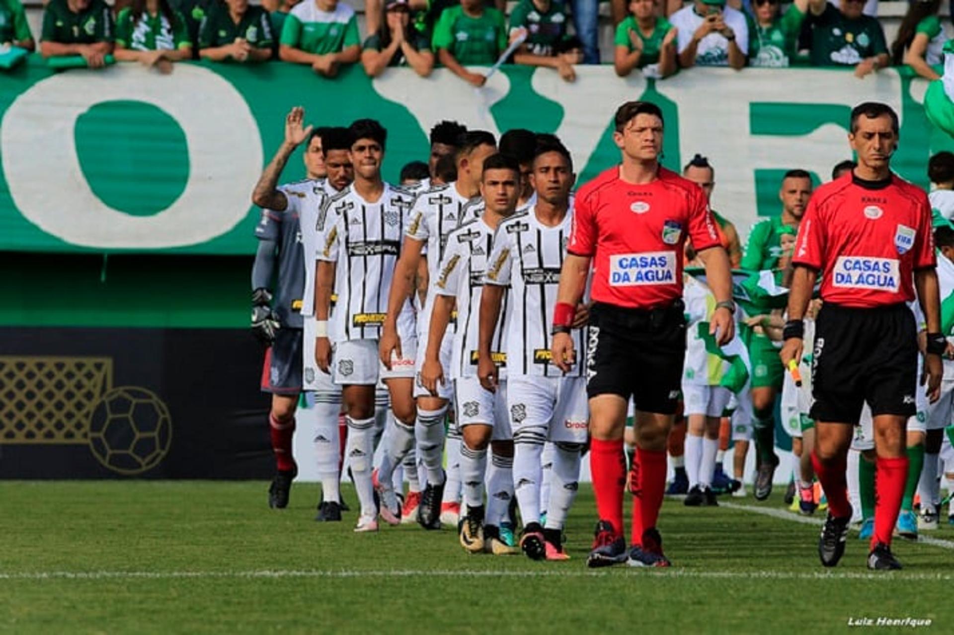
[[[548,429],[554,442],[587,442],[590,405],[585,377],[511,375],[507,379],[510,427]]]

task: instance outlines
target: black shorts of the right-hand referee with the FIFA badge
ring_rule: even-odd
[[[815,326],[811,418],[857,425],[872,416],[916,412],[918,336],[904,304],[855,309],[826,303]]]

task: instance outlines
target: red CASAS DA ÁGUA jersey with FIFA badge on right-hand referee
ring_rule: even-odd
[[[913,300],[913,272],[936,264],[927,195],[894,174],[819,187],[797,245],[792,260],[821,272],[821,298],[857,308]]]

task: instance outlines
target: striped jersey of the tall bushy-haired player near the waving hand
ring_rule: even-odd
[[[407,191],[385,183],[381,198],[369,203],[349,185],[322,207],[318,226],[324,235],[318,258],[337,265],[338,302],[328,329],[332,340],[381,336],[412,199]],[[409,302],[403,313],[407,311]]]

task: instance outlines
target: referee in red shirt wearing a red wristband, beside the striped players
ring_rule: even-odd
[[[686,240],[706,266],[718,300],[712,331],[720,344],[734,333],[729,256],[706,196],[695,183],[659,165],[662,111],[631,101],[615,115],[613,141],[622,163],[576,195],[568,256],[553,316],[553,362],[577,362],[570,328],[592,263],[587,393],[591,472],[600,521],[587,561],[605,566],[669,566],[656,519],[666,486],[666,439],[673,426],[686,351],[682,254]],[[623,538],[627,405],[636,408],[638,477],[633,546]]]

